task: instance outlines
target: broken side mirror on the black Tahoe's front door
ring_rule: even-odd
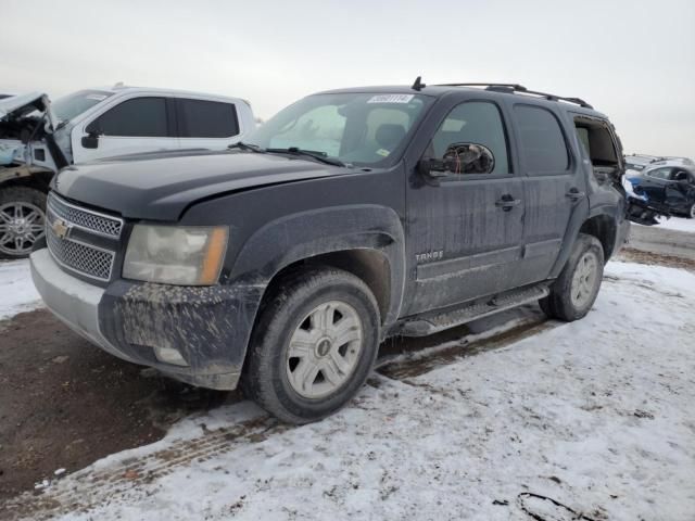
[[[495,156],[492,151],[478,143],[453,143],[441,160],[422,158],[418,163],[420,174],[433,178],[458,174],[491,174],[494,168]]]

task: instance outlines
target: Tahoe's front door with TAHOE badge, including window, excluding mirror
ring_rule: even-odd
[[[409,176],[407,252],[415,281],[408,315],[508,289],[520,260],[522,186],[511,167],[507,122],[496,102],[464,100],[447,100],[422,156],[442,160],[453,144],[482,144],[494,155],[494,169],[451,175],[439,185],[417,169]]]

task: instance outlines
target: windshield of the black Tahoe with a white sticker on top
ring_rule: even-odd
[[[386,164],[430,103],[419,94],[309,96],[280,111],[244,142],[318,152],[359,166]]]

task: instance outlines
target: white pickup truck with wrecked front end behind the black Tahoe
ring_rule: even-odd
[[[116,85],[50,102],[0,99],[0,257],[28,255],[43,234],[46,193],[64,166],[163,150],[223,150],[255,128],[248,101]]]

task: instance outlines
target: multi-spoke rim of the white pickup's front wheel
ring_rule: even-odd
[[[11,256],[27,255],[41,237],[46,214],[31,203],[13,202],[0,206],[0,252]]]

